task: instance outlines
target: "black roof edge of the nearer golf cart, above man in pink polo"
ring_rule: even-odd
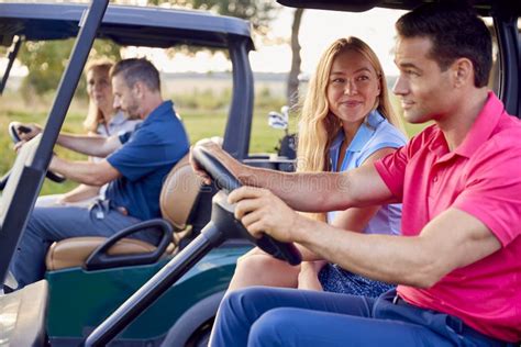
[[[448,0],[451,1],[451,0]],[[387,8],[399,10],[412,10],[424,2],[432,0],[277,0],[277,2],[293,8],[336,10],[363,12],[373,8]],[[521,13],[519,1],[498,1],[498,0],[474,0],[474,8],[480,15],[494,15],[499,9],[509,10],[512,13]]]

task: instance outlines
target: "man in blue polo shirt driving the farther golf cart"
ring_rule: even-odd
[[[114,108],[140,116],[132,133],[110,137],[60,134],[57,143],[101,161],[70,161],[53,157],[49,170],[89,184],[109,183],[106,198],[89,208],[35,208],[11,261],[19,288],[45,273],[45,255],[56,240],[76,236],[111,236],[140,221],[160,216],[162,184],[174,165],[189,149],[186,131],[173,109],[163,101],[159,72],[146,59],[125,59],[111,71]],[[40,133],[30,125],[29,139]],[[133,235],[154,243],[153,232]]]

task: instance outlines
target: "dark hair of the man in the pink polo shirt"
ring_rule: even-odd
[[[403,14],[396,23],[404,38],[428,37],[432,41],[429,57],[442,70],[457,58],[474,65],[474,85],[487,86],[492,66],[492,43],[487,25],[464,2],[426,3]]]

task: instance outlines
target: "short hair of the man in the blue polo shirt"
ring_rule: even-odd
[[[123,76],[129,87],[134,87],[137,81],[141,81],[149,90],[160,91],[159,71],[147,59],[132,58],[121,60],[110,71],[111,77],[117,75]]]

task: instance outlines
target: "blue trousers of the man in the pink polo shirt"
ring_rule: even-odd
[[[254,287],[221,303],[210,346],[505,346],[458,318],[393,300]]]

